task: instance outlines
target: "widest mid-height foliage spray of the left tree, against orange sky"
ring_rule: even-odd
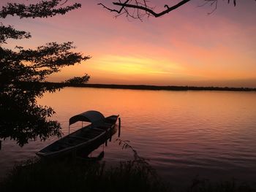
[[[89,56],[73,53],[72,48],[72,42],[50,42],[35,50],[17,47],[18,51],[13,51],[0,47],[1,84],[7,88],[10,83],[39,82],[48,75],[59,72],[61,67],[89,59]]]

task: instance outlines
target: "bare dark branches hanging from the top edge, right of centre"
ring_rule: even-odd
[[[150,1],[147,0],[118,0],[116,2],[112,1],[113,7],[107,5],[106,3],[99,3],[103,8],[108,9],[110,12],[115,12],[116,17],[119,15],[126,15],[127,18],[135,18],[142,20],[143,17],[150,17],[153,16],[155,18],[158,18],[162,15],[165,15],[174,9],[177,9],[184,4],[187,4],[189,1],[192,0],[180,0],[178,1],[170,1],[170,4],[165,4],[163,6],[162,11],[155,12],[154,9],[157,7],[157,1],[155,1],[155,5],[151,4]],[[214,9],[212,12],[214,12],[215,9],[217,9],[218,0],[202,0],[204,3],[201,5],[210,4],[211,6],[214,6]],[[230,1],[233,2],[233,5],[236,6],[236,0],[223,0],[227,1],[229,4]],[[256,1],[256,0],[252,0]]]

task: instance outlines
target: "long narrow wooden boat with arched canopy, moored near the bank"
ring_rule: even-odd
[[[118,115],[111,115],[107,118],[98,111],[87,111],[79,115],[75,115],[69,119],[69,126],[78,121],[90,122],[88,126],[84,126],[72,134],[53,142],[47,147],[39,150],[36,154],[40,157],[58,157],[74,153],[80,149],[86,149],[99,142],[102,139],[108,139],[110,132],[116,126]]]

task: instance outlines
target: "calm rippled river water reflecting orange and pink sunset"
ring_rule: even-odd
[[[56,110],[53,119],[59,120],[64,134],[69,118],[80,112],[119,114],[121,139],[129,140],[160,176],[173,183],[192,180],[196,175],[211,180],[234,177],[255,181],[255,92],[64,88],[45,94],[39,104]],[[78,126],[72,126],[72,131]],[[22,148],[13,141],[3,141],[0,176],[55,139],[32,141]],[[122,150],[113,141],[104,147],[105,161],[116,164],[132,159],[129,149]],[[92,155],[102,150],[103,146]]]

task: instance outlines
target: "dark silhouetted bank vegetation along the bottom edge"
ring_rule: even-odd
[[[164,183],[143,158],[108,167],[104,162],[72,159],[40,161],[33,159],[15,166],[0,183],[0,191],[182,191],[252,192],[250,185],[235,181],[211,183],[195,179],[183,188]]]

